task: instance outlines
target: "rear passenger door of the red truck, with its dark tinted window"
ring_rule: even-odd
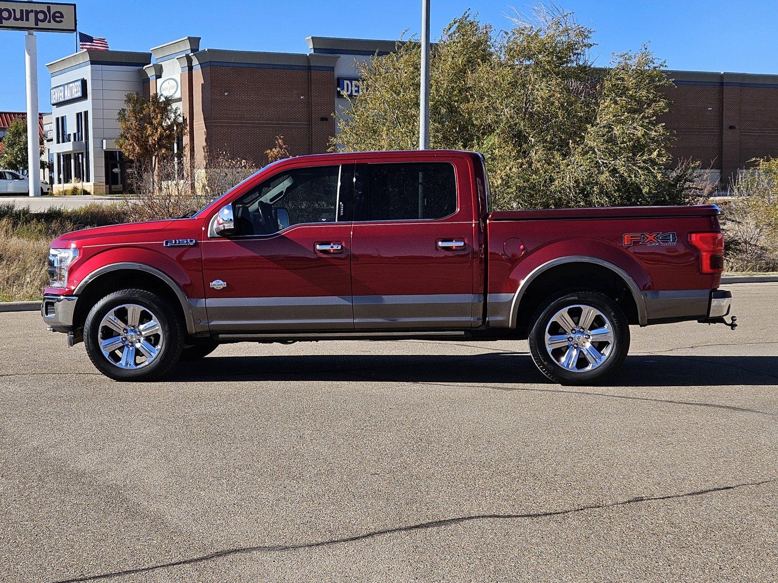
[[[472,325],[469,183],[463,160],[357,164],[352,231],[356,329]]]

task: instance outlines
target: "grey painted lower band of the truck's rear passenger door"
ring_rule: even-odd
[[[472,326],[473,294],[355,295],[354,327],[461,328]]]

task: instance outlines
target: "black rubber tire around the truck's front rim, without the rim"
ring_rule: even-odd
[[[103,318],[118,306],[135,304],[148,309],[156,316],[161,330],[161,347],[156,358],[140,368],[120,368],[112,364],[100,349],[100,323]],[[175,309],[166,301],[145,289],[123,289],[113,292],[97,302],[86,316],[84,324],[84,345],[89,360],[95,368],[110,379],[117,381],[152,381],[166,375],[178,361],[184,348],[184,326]]]

